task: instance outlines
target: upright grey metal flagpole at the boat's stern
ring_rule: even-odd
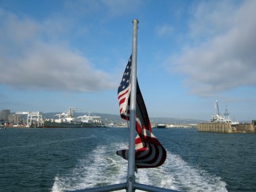
[[[129,157],[127,172],[127,192],[133,192],[135,183],[135,129],[136,129],[136,94],[137,94],[137,24],[133,20],[133,44],[131,57],[131,97],[130,97],[130,128],[129,128]]]

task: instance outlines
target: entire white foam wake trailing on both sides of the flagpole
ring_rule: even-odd
[[[85,189],[88,187],[125,183],[127,161],[115,154],[125,143],[99,146],[92,154],[79,160],[68,174],[57,174],[53,192]],[[139,169],[136,182],[179,191],[227,191],[226,183],[220,177],[200,168],[189,166],[180,156],[167,152],[164,165],[158,168]],[[125,191],[125,190],[123,190]]]

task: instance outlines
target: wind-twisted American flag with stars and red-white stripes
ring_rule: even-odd
[[[131,57],[123,73],[123,79],[118,89],[119,109],[122,119],[129,121],[130,91],[131,91]],[[136,131],[135,166],[137,168],[153,168],[160,166],[166,160],[166,150],[152,133],[146,105],[137,82],[136,95]],[[128,160],[129,149],[119,150],[117,154]]]

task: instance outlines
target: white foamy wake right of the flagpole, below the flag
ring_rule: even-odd
[[[190,166],[180,156],[167,152],[163,166],[150,170],[139,170],[139,183],[147,177],[145,184],[178,191],[227,191],[226,183],[220,177],[205,170]],[[137,179],[138,181],[138,179]],[[141,181],[141,182],[140,182]]]

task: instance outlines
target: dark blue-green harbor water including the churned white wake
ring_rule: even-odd
[[[167,151],[136,182],[179,191],[256,191],[256,134],[153,129]],[[0,191],[65,191],[125,183],[128,129],[1,129]]]

